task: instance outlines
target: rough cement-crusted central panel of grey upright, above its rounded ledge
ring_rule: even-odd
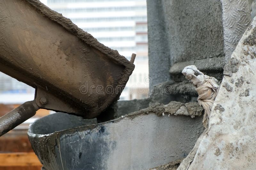
[[[225,55],[219,0],[163,0],[162,7],[171,65]]]

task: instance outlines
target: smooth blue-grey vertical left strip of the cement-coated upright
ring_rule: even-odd
[[[159,0],[147,1],[148,11],[148,67],[152,85],[170,80],[170,51],[165,27],[164,10]],[[160,76],[161,75],[161,76]]]

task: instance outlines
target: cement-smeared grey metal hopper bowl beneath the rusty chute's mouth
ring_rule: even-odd
[[[47,170],[149,169],[186,157],[203,130],[201,119],[144,110],[88,125],[55,113],[31,124],[28,137]]]

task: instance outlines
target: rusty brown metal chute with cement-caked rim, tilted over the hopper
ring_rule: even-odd
[[[0,1],[0,71],[36,88],[39,108],[97,117],[118,99],[133,69],[39,0]]]

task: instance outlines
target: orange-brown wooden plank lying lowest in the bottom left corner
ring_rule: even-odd
[[[0,167],[2,166],[42,166],[42,164],[33,152],[0,153]]]

